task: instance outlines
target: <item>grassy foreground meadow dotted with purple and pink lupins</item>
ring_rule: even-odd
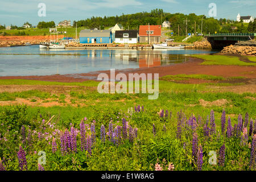
[[[45,170],[155,170],[159,165],[162,170],[168,170],[172,167],[171,163],[174,170],[253,169],[250,148],[247,143],[241,144],[242,134],[234,133],[232,137],[227,137],[226,133],[222,133],[221,116],[225,109],[225,128],[228,117],[232,126],[238,122],[238,114],[243,119],[249,118],[249,122],[250,118],[254,120],[256,94],[232,92],[245,85],[179,84],[169,81],[175,78],[228,79],[207,75],[165,76],[159,80],[157,100],[148,100],[148,93],[100,94],[96,81],[0,80],[3,88],[9,86],[16,89],[14,92],[1,92],[0,104],[18,99],[28,103],[0,107],[0,158],[4,159],[3,167],[6,170],[26,167],[38,170],[38,152],[45,151],[47,163],[42,165]],[[20,91],[33,86],[35,89]],[[56,104],[43,107],[39,101]],[[214,121],[211,110],[214,111]],[[245,117],[246,113],[249,117]],[[207,135],[205,126],[210,115],[208,126],[212,129],[214,122],[216,128]],[[46,125],[51,117],[52,120]],[[196,125],[189,124],[193,118]],[[85,130],[82,130],[84,125]],[[110,131],[115,135],[110,135]],[[65,135],[69,135],[72,141],[72,136],[75,136],[76,145],[65,143],[68,140],[62,139]],[[84,146],[82,140],[86,140],[86,144],[92,142],[92,146]],[[250,135],[247,142],[251,141]],[[218,154],[224,143],[225,164],[222,165],[221,158],[215,165],[209,164],[209,151]],[[201,157],[193,155],[193,148],[199,148],[200,152],[200,146]],[[23,150],[26,151],[26,165],[19,164],[24,159],[17,157],[17,152]],[[198,163],[199,159],[203,163]]]

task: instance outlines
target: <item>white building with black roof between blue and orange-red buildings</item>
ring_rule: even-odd
[[[137,30],[117,30],[115,31],[115,43],[136,44],[138,40]]]

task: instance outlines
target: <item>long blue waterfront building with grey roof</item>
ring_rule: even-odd
[[[82,30],[79,38],[81,44],[108,44],[113,42],[111,30]]]

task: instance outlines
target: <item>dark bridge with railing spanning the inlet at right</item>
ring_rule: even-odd
[[[213,49],[223,49],[226,46],[234,45],[238,43],[238,41],[247,41],[254,39],[256,33],[247,34],[207,34],[205,38],[207,38],[208,42],[212,45]]]

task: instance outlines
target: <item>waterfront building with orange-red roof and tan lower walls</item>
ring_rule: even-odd
[[[141,25],[139,26],[139,43],[160,43],[160,25]]]

